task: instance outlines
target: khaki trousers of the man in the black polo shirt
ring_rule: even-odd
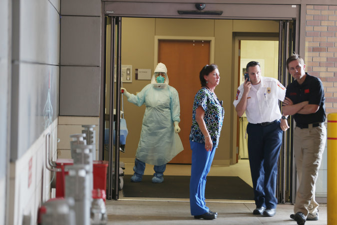
[[[327,129],[320,126],[309,128],[295,127],[294,154],[299,187],[296,192],[294,212],[318,212],[319,204],[315,200],[315,183],[321,166],[322,154],[326,146]]]

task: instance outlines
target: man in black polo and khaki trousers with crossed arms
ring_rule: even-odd
[[[327,139],[323,84],[318,77],[306,73],[305,67],[298,54],[287,59],[287,69],[295,80],[287,86],[283,101],[283,114],[294,115],[296,121],[294,154],[300,185],[296,192],[295,214],[290,217],[297,224],[319,219],[315,183]]]

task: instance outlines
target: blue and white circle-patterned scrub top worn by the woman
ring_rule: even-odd
[[[205,111],[204,120],[207,130],[212,137],[213,146],[217,147],[225,114],[222,102],[220,103],[215,93],[212,93],[207,87],[202,87],[194,97],[190,140],[205,143],[204,134],[202,134],[195,119],[195,111],[199,105]]]

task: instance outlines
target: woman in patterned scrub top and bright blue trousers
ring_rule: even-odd
[[[222,101],[219,101],[214,93],[219,80],[218,66],[205,65],[200,71],[202,88],[194,97],[190,133],[192,149],[190,207],[194,218],[215,219],[218,214],[206,206],[205,186],[224,120]]]

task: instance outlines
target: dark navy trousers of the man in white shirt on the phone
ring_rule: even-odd
[[[276,180],[283,130],[280,121],[262,126],[248,123],[248,154],[257,207],[276,208]]]

